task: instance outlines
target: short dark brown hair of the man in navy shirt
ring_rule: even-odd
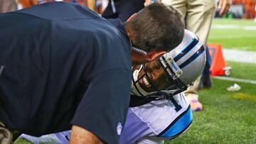
[[[146,52],[174,49],[181,43],[185,28],[181,13],[160,3],[146,6],[124,26],[132,46]]]

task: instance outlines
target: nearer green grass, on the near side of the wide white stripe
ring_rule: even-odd
[[[232,77],[255,79],[256,65],[228,65],[233,67]],[[226,91],[233,83],[213,79],[211,89],[199,92],[203,111],[194,112],[191,128],[168,143],[256,143],[256,85],[236,82],[240,91]]]

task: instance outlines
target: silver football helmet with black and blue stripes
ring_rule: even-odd
[[[133,67],[133,95],[143,96],[149,100],[160,100],[168,99],[185,91],[203,72],[206,64],[206,50],[194,33],[185,30],[181,44],[156,61],[158,65],[161,65],[161,69],[165,72],[164,75],[168,78],[170,85],[164,89],[159,89],[148,74],[152,70],[146,70],[147,64],[140,65],[137,69]],[[154,90],[146,92],[142,85],[148,85]]]

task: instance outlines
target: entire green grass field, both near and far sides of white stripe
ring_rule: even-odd
[[[221,26],[233,28],[218,28]],[[209,43],[220,43],[223,48],[256,51],[256,25],[252,20],[215,19]],[[256,64],[228,62],[228,65],[233,67],[231,77],[256,80]],[[204,109],[193,113],[191,128],[166,143],[255,144],[256,84],[236,83],[242,89],[238,92],[228,92],[226,88],[234,82],[213,79],[211,89],[199,92]],[[16,144],[19,143],[28,142],[16,140]]]

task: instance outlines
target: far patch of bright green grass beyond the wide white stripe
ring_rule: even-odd
[[[214,19],[208,43],[220,43],[228,49],[256,51],[256,24],[253,20]]]

